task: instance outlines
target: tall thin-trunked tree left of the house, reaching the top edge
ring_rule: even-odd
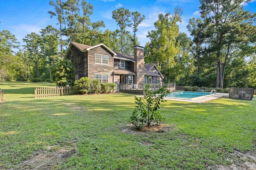
[[[64,46],[64,41],[62,39],[62,35],[63,35],[63,28],[62,28],[62,24],[64,23],[65,25],[65,20],[64,20],[64,13],[63,13],[63,4],[61,2],[61,0],[56,0],[56,2],[54,1],[51,1],[49,2],[49,4],[51,6],[54,7],[54,11],[48,11],[48,14],[50,14],[50,18],[53,18],[54,16],[57,17],[57,20],[58,20],[58,24],[60,24],[60,56],[63,57],[63,46]],[[66,27],[66,25],[65,25]]]

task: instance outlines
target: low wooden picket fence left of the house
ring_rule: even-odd
[[[35,98],[43,98],[43,97],[55,97],[55,96],[63,96],[77,94],[77,91],[73,86],[70,87],[37,87],[35,89]]]

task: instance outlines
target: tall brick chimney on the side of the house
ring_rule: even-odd
[[[134,46],[134,84],[144,84],[144,47]]]

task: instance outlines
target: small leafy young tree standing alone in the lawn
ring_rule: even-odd
[[[156,92],[150,90],[150,85],[146,84],[144,87],[143,97],[134,97],[135,109],[130,117],[130,123],[137,128],[143,127],[146,123],[148,126],[152,122],[160,123],[164,121],[162,113],[157,111],[160,109],[160,103],[166,102],[164,97],[170,93],[166,87],[160,88]]]

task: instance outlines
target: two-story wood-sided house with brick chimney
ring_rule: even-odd
[[[155,64],[144,64],[144,48],[134,47],[134,56],[112,51],[103,43],[90,46],[71,42],[64,59],[72,61],[76,79],[89,77],[117,84],[118,90],[162,86],[163,76]]]

